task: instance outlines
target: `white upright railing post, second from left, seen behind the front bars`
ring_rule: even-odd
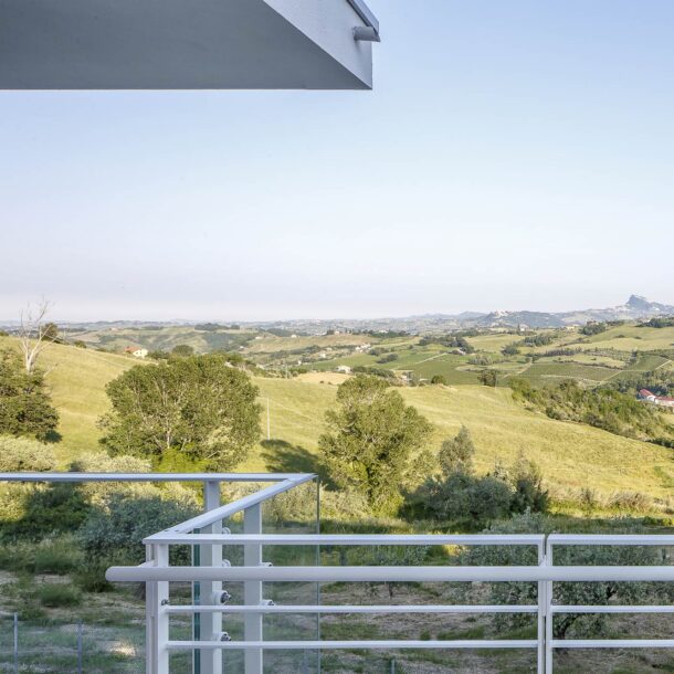
[[[220,507],[220,482],[203,483],[203,507],[214,510]],[[222,534],[222,522],[217,522],[201,529],[202,534]],[[204,567],[222,566],[222,545],[202,545],[199,550],[199,561]],[[222,581],[202,582],[200,585],[200,603],[214,604],[222,592]],[[202,613],[200,622],[201,639],[218,641],[222,632],[222,613]],[[222,674],[222,651],[213,649],[201,651],[200,672],[197,674]]]

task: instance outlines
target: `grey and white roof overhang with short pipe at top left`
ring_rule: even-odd
[[[355,29],[364,0],[0,0],[0,88],[368,89]]]

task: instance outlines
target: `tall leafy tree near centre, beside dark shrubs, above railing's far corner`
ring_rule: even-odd
[[[366,376],[339,387],[326,422],[319,447],[331,480],[365,495],[373,512],[394,512],[412,455],[431,424],[386,381]]]

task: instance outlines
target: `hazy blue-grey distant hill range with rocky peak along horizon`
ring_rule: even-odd
[[[240,323],[236,327],[257,328],[262,330],[283,330],[292,334],[323,334],[333,330],[400,330],[406,333],[435,333],[442,330],[461,330],[470,328],[560,328],[573,325],[585,325],[589,322],[605,320],[642,320],[654,316],[674,316],[674,305],[650,302],[640,295],[632,295],[625,304],[605,309],[581,309],[576,312],[463,312],[462,314],[425,314],[422,316],[388,317],[388,318],[354,318],[354,319],[289,319],[255,323]],[[159,329],[161,327],[199,326],[200,322],[166,320],[166,322],[92,322],[92,323],[56,323],[71,330],[109,330],[124,328]],[[0,322],[0,327],[15,329],[17,322]],[[215,324],[213,324],[215,327]],[[225,326],[222,326],[225,327]]]

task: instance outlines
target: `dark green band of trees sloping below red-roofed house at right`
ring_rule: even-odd
[[[657,409],[614,388],[585,389],[575,381],[534,388],[526,379],[510,381],[516,399],[545,412],[550,419],[576,421],[617,435],[671,446],[672,425]]]

